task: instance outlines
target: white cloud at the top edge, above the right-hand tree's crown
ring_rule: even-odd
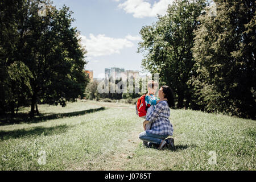
[[[118,5],[119,8],[131,13],[135,18],[155,17],[156,14],[164,15],[168,9],[168,5],[172,4],[174,0],[159,0],[151,5],[144,0],[127,0]]]

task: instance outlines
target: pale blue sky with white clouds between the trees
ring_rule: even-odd
[[[104,77],[105,68],[118,67],[142,71],[143,56],[138,51],[142,41],[139,31],[166,14],[173,0],[53,0],[59,9],[66,5],[73,11],[87,51],[86,70],[94,78]]]

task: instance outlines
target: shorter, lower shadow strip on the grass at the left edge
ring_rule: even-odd
[[[0,140],[7,140],[10,138],[22,138],[22,137],[36,137],[39,135],[55,135],[65,133],[68,130],[67,125],[59,125],[54,127],[32,127],[32,129],[20,129],[13,131],[1,131],[0,130]]]

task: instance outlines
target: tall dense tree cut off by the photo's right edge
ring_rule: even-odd
[[[216,16],[201,15],[191,78],[207,111],[255,118],[255,1],[215,1]]]

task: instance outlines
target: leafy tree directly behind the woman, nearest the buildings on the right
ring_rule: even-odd
[[[177,107],[191,100],[187,81],[195,61],[193,47],[194,30],[199,25],[197,17],[205,6],[204,1],[174,1],[167,15],[158,16],[158,22],[144,26],[140,32],[143,42],[138,52],[144,53],[143,67],[151,73],[160,73],[159,80],[171,86],[177,94]]]

